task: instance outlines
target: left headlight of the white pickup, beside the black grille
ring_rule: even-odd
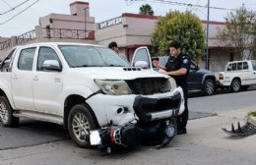
[[[97,86],[105,93],[111,95],[131,94],[132,91],[124,81],[96,80]]]

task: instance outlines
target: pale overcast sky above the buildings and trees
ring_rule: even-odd
[[[89,2],[90,15],[96,23],[113,19],[122,13],[139,13],[142,5],[152,6],[155,16],[169,11],[191,10],[201,20],[207,20],[208,0],[0,0],[0,36],[10,37],[26,33],[38,26],[40,17],[48,14],[70,14],[69,5],[75,1]],[[256,11],[256,0],[209,0],[209,20],[224,22],[227,14],[244,4]]]

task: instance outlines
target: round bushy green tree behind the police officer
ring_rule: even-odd
[[[205,54],[205,31],[200,19],[191,12],[169,12],[160,18],[152,34],[153,54],[162,56],[169,53],[168,46],[173,40],[182,44],[182,52],[198,61]]]

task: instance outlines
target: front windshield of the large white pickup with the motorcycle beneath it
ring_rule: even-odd
[[[69,67],[131,67],[113,50],[87,45],[59,45]]]

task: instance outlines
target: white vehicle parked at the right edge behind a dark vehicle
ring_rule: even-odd
[[[218,73],[216,77],[221,88],[229,88],[234,92],[246,90],[256,84],[256,60],[228,62],[224,72]]]

